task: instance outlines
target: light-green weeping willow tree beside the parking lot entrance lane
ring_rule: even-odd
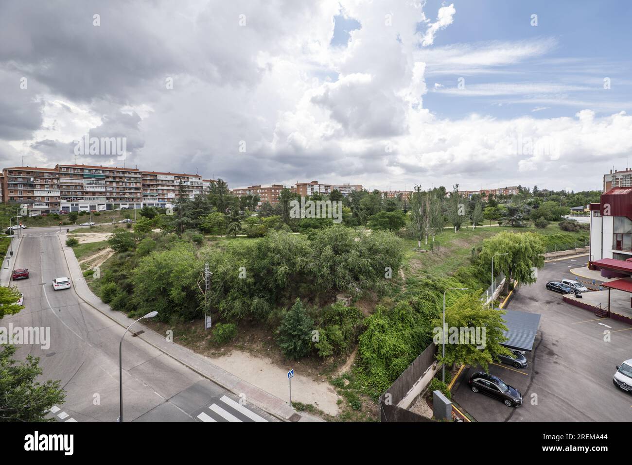
[[[504,272],[507,279],[505,288],[509,289],[509,282],[515,280],[518,284],[532,284],[537,280],[537,269],[544,267],[545,246],[542,237],[536,233],[512,233],[503,231],[483,241],[479,258],[486,269],[490,269],[492,256],[495,272]]]

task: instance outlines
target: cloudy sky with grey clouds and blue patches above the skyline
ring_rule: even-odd
[[[631,20],[627,0],[0,0],[0,167],[73,162],[89,134],[231,187],[595,189],[632,166]]]

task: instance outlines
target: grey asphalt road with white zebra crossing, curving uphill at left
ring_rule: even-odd
[[[51,342],[48,349],[18,346],[16,358],[38,356],[42,378],[61,380],[66,401],[51,413],[58,420],[116,421],[124,329],[84,303],[74,289],[52,289],[52,279],[69,275],[56,228],[20,233],[15,268],[28,268],[30,278],[12,284],[24,294],[25,309],[0,324],[49,327]],[[125,421],[275,421],[130,332],[123,342],[123,401]]]

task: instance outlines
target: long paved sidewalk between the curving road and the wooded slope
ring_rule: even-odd
[[[95,310],[100,311],[106,317],[110,318],[112,321],[121,325],[121,327],[128,327],[134,320],[126,317],[125,313],[121,313],[120,311],[112,310],[109,305],[106,305],[95,296],[90,288],[88,287],[87,282],[83,279],[83,273],[79,266],[79,263],[76,260],[75,253],[70,247],[67,247],[64,244],[64,234],[59,235],[59,241],[61,243],[61,247],[64,251],[64,256],[66,257],[66,263],[68,263],[68,269],[70,270],[70,279],[73,281],[73,287],[75,289],[76,294],[85,301],[88,305],[95,308]],[[278,397],[272,396],[268,392],[265,392],[258,387],[245,382],[244,380],[234,376],[228,371],[222,370],[219,366],[216,366],[206,357],[200,356],[195,352],[187,349],[186,347],[179,346],[174,342],[169,342],[165,337],[154,332],[154,330],[149,329],[148,327],[143,326],[140,323],[136,323],[134,326],[137,328],[136,332],[140,330],[144,330],[145,332],[142,335],[138,335],[139,339],[147,342],[151,346],[154,346],[159,351],[167,354],[174,360],[178,361],[182,365],[190,368],[191,370],[198,373],[205,378],[208,378],[214,383],[217,383],[224,389],[228,389],[229,391],[237,394],[244,394],[245,398],[248,402],[256,405],[258,408],[263,409],[267,413],[276,416],[280,420],[284,421],[323,421],[320,418],[315,416],[311,416],[306,413],[296,413],[295,409],[291,408],[287,404],[287,402],[282,401]]]

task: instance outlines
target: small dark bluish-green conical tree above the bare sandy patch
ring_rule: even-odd
[[[286,357],[299,359],[312,349],[313,320],[303,308],[301,299],[288,310],[279,326],[279,347]]]

